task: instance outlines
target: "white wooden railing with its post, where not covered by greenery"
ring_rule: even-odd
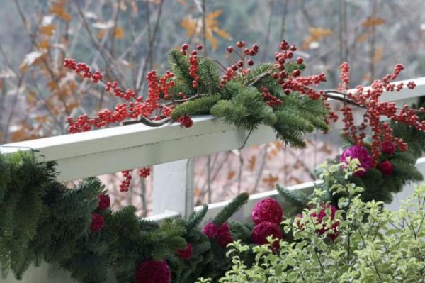
[[[425,95],[425,77],[414,79],[414,81],[416,83],[414,90],[403,89],[399,92],[389,92],[382,96],[382,100],[395,101],[398,106],[416,102],[419,96]],[[341,104],[340,101],[331,101],[331,103],[334,106]],[[360,121],[362,112],[363,109],[356,109],[354,114],[356,121]],[[193,207],[191,158],[240,148],[248,135],[247,131],[239,130],[233,125],[217,121],[210,116],[193,118],[193,121],[193,126],[187,129],[181,128],[177,123],[159,128],[135,124],[41,138],[2,145],[0,152],[8,154],[17,150],[29,150],[29,148],[37,150],[35,154],[40,160],[57,162],[57,171],[60,173],[58,180],[62,182],[154,165],[154,216],[150,218],[161,220],[176,215],[187,216],[196,209]],[[332,131],[339,131],[341,126],[341,123],[334,124]],[[276,140],[276,137],[271,128],[260,126],[251,133],[245,146],[269,143],[273,140]],[[419,170],[425,173],[425,158],[418,160],[418,166]],[[308,191],[313,185],[313,182],[308,182],[290,189]],[[251,195],[249,203],[235,217],[248,218],[256,200],[265,196],[276,196],[276,194],[276,191],[270,191]],[[210,204],[206,219],[215,216],[225,204],[227,201]],[[49,268],[52,269],[52,267]],[[9,278],[7,282],[14,281]],[[25,282],[44,281],[29,279]]]

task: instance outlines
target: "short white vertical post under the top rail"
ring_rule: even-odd
[[[175,211],[181,216],[193,212],[193,159],[154,166],[154,215]]]

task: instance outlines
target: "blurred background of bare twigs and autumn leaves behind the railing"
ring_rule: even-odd
[[[351,87],[397,62],[406,67],[401,79],[425,72],[423,0],[0,0],[0,7],[0,143],[67,133],[67,116],[118,102],[66,72],[65,57],[141,94],[147,72],[166,70],[169,49],[182,43],[204,43],[229,65],[225,50],[237,40],[259,44],[256,62],[266,62],[285,38],[300,47],[307,72],[327,74],[327,88],[338,85],[344,61]],[[199,157],[196,204],[311,180],[317,162],[338,149],[337,137],[312,135],[305,150],[276,142]],[[117,177],[104,178],[115,205],[149,214],[152,180],[135,178],[128,194],[115,194]]]

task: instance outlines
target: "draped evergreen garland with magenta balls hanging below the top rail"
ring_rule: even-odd
[[[391,126],[398,138],[407,141],[409,150],[384,144],[376,167],[371,167],[368,143],[360,154],[351,144],[341,157],[317,169],[323,181],[317,184],[321,194],[305,196],[278,186],[280,195],[292,205],[284,211],[285,220],[296,218],[314,199],[341,207],[347,196],[334,194],[336,180],[363,188],[364,201],[390,202],[392,193],[399,192],[403,184],[421,179],[414,163],[425,151],[425,133],[405,124]],[[358,160],[359,168],[347,176],[349,160]],[[385,162],[391,167],[383,167]],[[104,186],[96,178],[67,189],[56,181],[54,163],[38,162],[32,152],[0,155],[0,167],[0,264],[3,272],[10,270],[18,279],[30,263],[45,260],[69,270],[79,282],[105,282],[108,268],[118,282],[149,282],[140,278],[149,278],[155,269],[168,274],[164,282],[171,277],[173,282],[194,282],[198,277],[221,277],[229,270],[231,262],[225,253],[233,240],[261,245],[271,235],[285,240],[292,237],[285,226],[279,226],[283,211],[274,199],[259,201],[252,212],[253,222],[228,221],[248,200],[241,194],[200,229],[208,206],[187,219],[158,224],[137,218],[133,206],[111,211]]]

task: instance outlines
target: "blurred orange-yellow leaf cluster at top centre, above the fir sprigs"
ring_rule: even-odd
[[[212,50],[217,49],[218,41],[215,35],[231,40],[232,36],[220,28],[220,21],[217,18],[223,13],[222,10],[215,10],[205,17],[205,38],[211,43]],[[186,36],[189,38],[194,35],[202,37],[203,33],[203,21],[202,18],[193,18],[192,16],[186,16],[181,20],[181,27],[186,30]]]

